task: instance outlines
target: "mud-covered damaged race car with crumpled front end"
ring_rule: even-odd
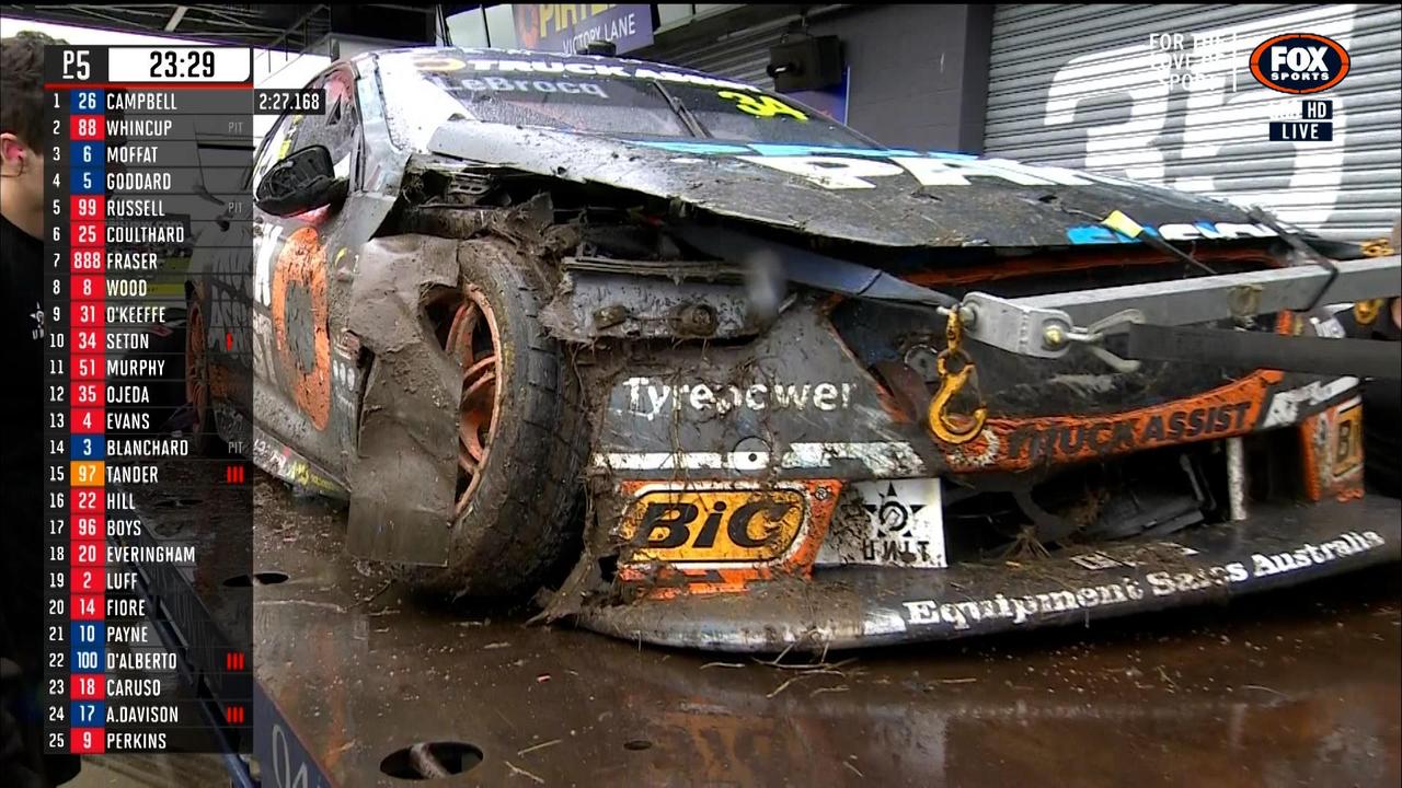
[[[1399,557],[1322,307],[1396,257],[659,63],[398,49],[310,87],[227,223],[252,280],[196,254],[188,395],[414,586],[816,651]],[[203,330],[230,299],[252,348]]]

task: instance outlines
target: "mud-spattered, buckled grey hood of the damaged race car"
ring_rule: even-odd
[[[963,154],[627,140],[477,122],[446,123],[429,149],[886,247],[1130,243],[1098,226],[1113,210],[1169,238],[1274,234],[1220,201]]]

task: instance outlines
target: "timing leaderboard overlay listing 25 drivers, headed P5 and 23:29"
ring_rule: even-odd
[[[251,749],[251,80],[245,48],[45,55],[50,753]]]

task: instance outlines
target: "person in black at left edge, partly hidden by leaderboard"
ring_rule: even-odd
[[[0,39],[0,785],[57,785],[76,757],[42,753],[43,48]]]

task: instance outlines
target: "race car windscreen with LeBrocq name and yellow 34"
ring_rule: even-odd
[[[496,55],[383,55],[395,136],[428,139],[437,125],[461,119],[627,137],[872,147],[789,98],[719,77],[652,63]]]

